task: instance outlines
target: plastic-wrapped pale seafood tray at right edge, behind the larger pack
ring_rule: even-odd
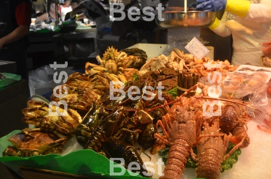
[[[251,65],[240,65],[234,72],[251,75],[260,78],[267,83],[271,79],[271,69]]]

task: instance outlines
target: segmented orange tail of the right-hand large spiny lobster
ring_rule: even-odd
[[[221,156],[214,148],[203,151],[197,165],[196,177],[218,179],[221,175]]]

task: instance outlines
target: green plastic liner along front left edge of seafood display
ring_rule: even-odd
[[[71,152],[67,155],[61,156],[58,154],[38,155],[31,157],[3,157],[3,152],[12,145],[8,140],[14,134],[22,132],[21,130],[14,130],[10,134],[0,138],[0,161],[24,177],[19,171],[19,166],[27,166],[32,168],[48,169],[53,171],[60,171],[72,174],[80,174],[85,176],[99,177],[99,178],[118,178],[118,179],[139,179],[146,178],[141,175],[132,176],[128,170],[118,165],[115,162],[108,160],[105,156],[94,152],[93,150],[85,149]],[[123,175],[110,175],[110,164],[116,166],[114,172],[124,171]],[[135,174],[135,173],[134,173]],[[191,178],[195,179],[195,178]],[[203,178],[202,178],[203,179]]]

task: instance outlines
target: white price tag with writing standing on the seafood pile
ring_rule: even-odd
[[[209,52],[209,50],[195,37],[185,46],[185,48],[197,59],[202,59]]]

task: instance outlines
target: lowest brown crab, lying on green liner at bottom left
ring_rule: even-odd
[[[23,132],[11,136],[8,140],[13,146],[3,152],[4,156],[29,157],[35,155],[60,154],[64,149],[65,139],[50,133],[33,132],[33,137]]]

